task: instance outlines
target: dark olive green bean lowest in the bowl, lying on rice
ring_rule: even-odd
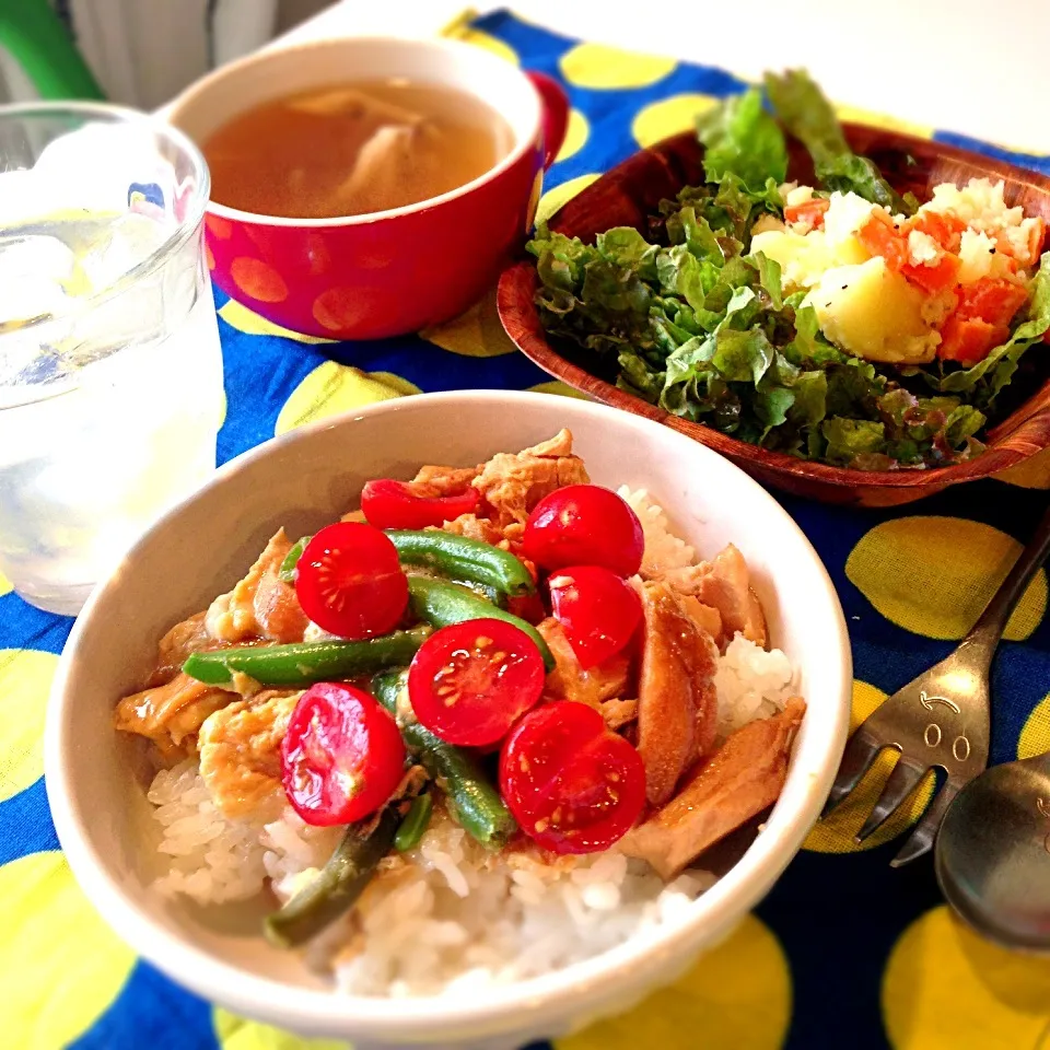
[[[264,920],[267,940],[281,948],[295,947],[352,908],[389,853],[400,822],[398,807],[393,805],[378,820],[350,825],[320,874]]]

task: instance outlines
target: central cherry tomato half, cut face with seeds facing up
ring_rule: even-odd
[[[503,620],[465,620],[435,631],[408,669],[416,718],[450,744],[503,739],[544,691],[536,643]]]

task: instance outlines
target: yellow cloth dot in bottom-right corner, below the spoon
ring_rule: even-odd
[[[897,941],[882,999],[894,1050],[1035,1050],[1050,1025],[1050,959],[980,940],[942,905]]]

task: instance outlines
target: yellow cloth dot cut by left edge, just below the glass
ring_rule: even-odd
[[[44,775],[44,711],[58,657],[0,649],[0,802]]]

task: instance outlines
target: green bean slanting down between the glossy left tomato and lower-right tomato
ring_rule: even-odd
[[[372,679],[372,693],[398,720],[406,746],[445,792],[463,829],[488,849],[500,849],[517,830],[514,818],[467,751],[399,716],[397,698],[406,689],[406,678],[404,670],[381,673]]]

